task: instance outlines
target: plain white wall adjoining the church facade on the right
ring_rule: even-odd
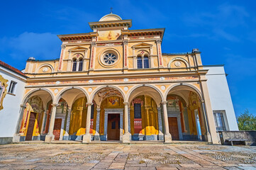
[[[206,74],[208,80],[206,82],[213,111],[225,111],[228,122],[228,127],[226,125],[227,130],[238,130],[224,66],[204,66],[204,69],[208,69]]]

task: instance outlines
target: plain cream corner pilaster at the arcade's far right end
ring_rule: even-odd
[[[204,96],[204,101],[202,101],[202,103],[204,103],[203,108],[205,108],[205,112],[206,112],[208,130],[211,134],[211,142],[213,142],[213,144],[218,144],[219,142],[218,142],[218,137],[216,132],[216,125],[214,122],[213,110],[211,108],[211,101],[210,101],[210,96],[208,94],[208,87],[207,87],[206,81],[201,81],[201,89]],[[209,140],[210,139],[208,139],[208,141]]]

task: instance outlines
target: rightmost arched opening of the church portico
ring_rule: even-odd
[[[179,85],[167,94],[167,114],[172,140],[205,140],[206,121],[198,92]]]

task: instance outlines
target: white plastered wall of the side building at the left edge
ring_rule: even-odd
[[[3,102],[4,108],[0,111],[0,137],[13,137],[18,122],[21,101],[25,90],[26,79],[15,72],[0,66],[0,74],[4,79],[8,79],[7,92],[11,81],[16,81],[14,94],[6,94]]]

